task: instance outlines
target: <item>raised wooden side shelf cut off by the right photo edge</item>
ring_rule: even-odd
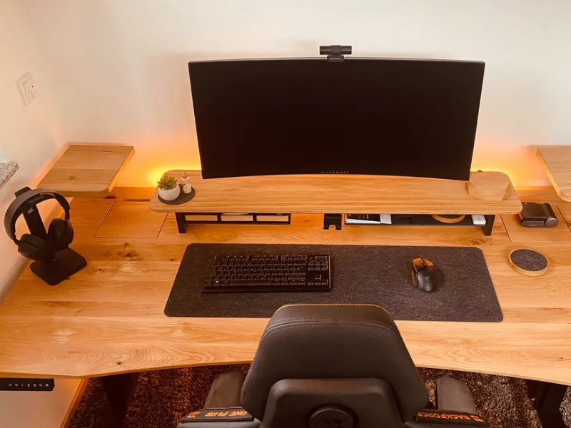
[[[536,154],[557,195],[571,202],[571,146],[542,146]]]

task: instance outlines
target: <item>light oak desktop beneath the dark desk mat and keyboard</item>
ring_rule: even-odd
[[[571,223],[571,203],[552,189],[520,197],[557,205]],[[163,315],[190,243],[469,245],[485,255],[504,320],[398,321],[415,364],[571,384],[571,232],[568,242],[522,244],[510,241],[501,218],[484,236],[460,226],[323,230],[321,215],[299,214],[291,225],[191,225],[179,234],[168,214],[158,238],[94,238],[112,203],[72,203],[71,246],[87,258],[84,270],[50,287],[26,268],[0,306],[0,376],[92,377],[251,362],[266,319]],[[507,255],[522,246],[547,255],[545,275],[510,268]]]

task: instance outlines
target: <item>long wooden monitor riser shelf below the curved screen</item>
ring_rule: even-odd
[[[170,170],[164,175],[180,178],[183,172]],[[435,178],[267,175],[203,180],[198,170],[188,175],[196,189],[193,200],[166,205],[155,192],[151,209],[162,213],[365,214],[515,214],[522,209],[511,183],[505,200],[490,201],[469,195],[464,181]]]

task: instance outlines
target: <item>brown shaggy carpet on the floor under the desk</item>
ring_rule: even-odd
[[[143,372],[124,427],[174,428],[186,412],[202,407],[208,389],[218,374],[231,370],[246,373],[248,367],[208,366]],[[432,402],[436,380],[450,376],[468,384],[478,412],[493,428],[541,428],[522,379],[450,370],[419,369],[419,372]],[[109,412],[101,379],[91,379],[71,417],[69,428],[104,428]],[[567,427],[571,427],[571,388],[567,389],[562,403],[562,415]]]

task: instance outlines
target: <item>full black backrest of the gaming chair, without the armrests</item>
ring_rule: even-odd
[[[428,393],[382,307],[288,305],[263,332],[241,401],[263,427],[286,427],[320,412],[333,415],[331,427],[353,426],[343,424],[343,414],[363,428],[373,419],[378,426],[379,415],[398,419],[383,426],[398,427],[428,404]],[[310,412],[302,415],[303,409]]]

